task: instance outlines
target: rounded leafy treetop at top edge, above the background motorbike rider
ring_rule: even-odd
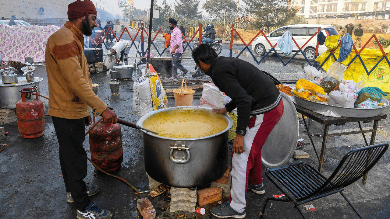
[[[226,15],[235,14],[237,12],[237,2],[234,0],[206,0],[202,8],[209,13],[212,18],[222,18],[223,10],[226,10]]]

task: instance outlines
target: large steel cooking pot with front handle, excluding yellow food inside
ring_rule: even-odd
[[[210,108],[179,106],[159,109],[142,116],[137,125],[143,127],[147,118],[164,111]],[[211,183],[220,178],[227,168],[227,139],[233,120],[223,115],[228,125],[217,134],[202,138],[167,138],[143,131],[145,170],[154,180],[176,187],[194,187]]]

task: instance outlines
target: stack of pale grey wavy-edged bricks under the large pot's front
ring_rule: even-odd
[[[188,211],[195,212],[197,203],[197,188],[177,188],[172,186],[170,201],[170,212]]]

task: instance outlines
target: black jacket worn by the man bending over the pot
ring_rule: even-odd
[[[237,129],[240,131],[246,130],[250,115],[271,111],[282,99],[271,78],[238,58],[220,56],[211,63],[206,74],[232,99],[225,105],[226,110],[231,112],[237,107]]]

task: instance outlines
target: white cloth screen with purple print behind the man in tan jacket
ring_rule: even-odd
[[[25,62],[33,57],[34,62],[45,62],[45,48],[51,34],[58,26],[0,25],[0,54],[3,60]]]

